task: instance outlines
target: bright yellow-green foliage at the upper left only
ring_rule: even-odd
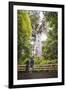
[[[29,15],[26,11],[18,11],[17,14],[18,14],[18,30],[24,33],[26,37],[28,37],[27,39],[29,39],[32,32]]]

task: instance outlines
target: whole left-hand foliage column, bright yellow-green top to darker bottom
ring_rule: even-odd
[[[29,15],[26,11],[17,11],[18,25],[18,63],[24,62],[30,56],[30,38],[32,27]]]

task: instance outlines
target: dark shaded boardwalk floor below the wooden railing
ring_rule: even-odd
[[[39,72],[18,72],[18,80],[21,79],[40,79],[40,78],[56,78],[58,76],[57,71],[49,72],[49,71],[39,71]]]

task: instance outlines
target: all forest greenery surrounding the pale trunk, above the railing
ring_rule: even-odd
[[[42,16],[40,15],[42,14]],[[25,64],[33,56],[35,64],[57,63],[58,58],[58,14],[47,11],[17,11],[18,64]],[[32,55],[36,37],[45,34],[42,55]],[[41,36],[40,35],[40,36]],[[45,37],[44,37],[45,38]]]

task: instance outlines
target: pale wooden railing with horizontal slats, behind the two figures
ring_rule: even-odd
[[[18,71],[25,71],[26,65],[18,65]],[[33,71],[57,71],[57,64],[34,65]]]

